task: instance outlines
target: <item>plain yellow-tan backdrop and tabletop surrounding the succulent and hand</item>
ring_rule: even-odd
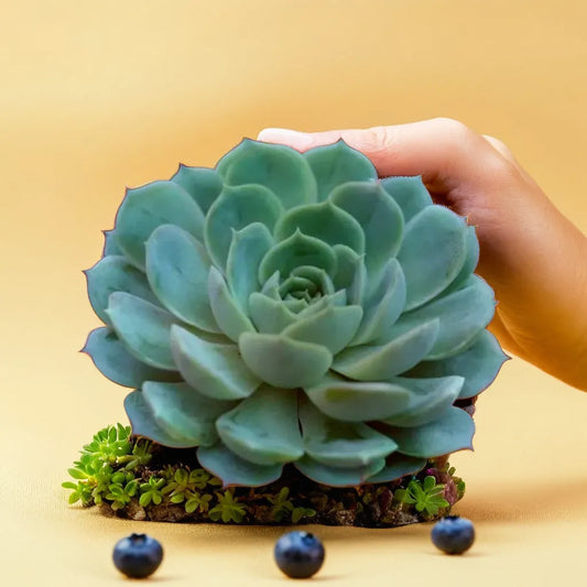
[[[76,450],[124,422],[124,391],[76,354],[98,324],[80,270],[124,185],[180,161],[211,165],[265,126],[450,116],[509,143],[586,231],[586,23],[583,0],[4,1],[2,585],[116,585],[111,547],[131,529],[164,544],[157,583],[283,584],[279,529],[126,523],[66,506]],[[585,394],[508,362],[479,401],[475,455],[454,457],[469,486],[457,511],[477,525],[470,554],[437,554],[426,525],[318,528],[316,580],[580,584],[586,421]]]

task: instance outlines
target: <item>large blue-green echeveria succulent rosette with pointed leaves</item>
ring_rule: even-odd
[[[378,180],[344,142],[242,141],[215,170],[129,189],[87,272],[106,324],[85,350],[135,388],[135,435],[198,447],[225,485],[292,463],[383,482],[469,448],[506,356],[486,329],[474,227],[418,177]]]

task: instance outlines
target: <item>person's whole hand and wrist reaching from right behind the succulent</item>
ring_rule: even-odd
[[[501,141],[452,119],[365,130],[264,129],[297,151],[343,139],[379,176],[422,175],[436,203],[477,227],[476,272],[499,301],[489,329],[509,352],[587,391],[587,238]]]

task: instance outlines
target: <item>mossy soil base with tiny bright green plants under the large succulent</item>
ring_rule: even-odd
[[[263,487],[224,487],[193,452],[133,437],[122,424],[100,430],[80,453],[63,483],[69,503],[134,520],[390,526],[439,519],[465,493],[446,459],[393,483],[327,487],[292,467]]]

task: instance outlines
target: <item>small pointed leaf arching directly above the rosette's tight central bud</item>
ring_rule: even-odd
[[[336,271],[336,256],[324,241],[306,237],[297,230],[265,254],[259,267],[259,281],[264,283],[275,271],[282,278],[287,278],[292,270],[302,265],[317,267],[333,275]]]

